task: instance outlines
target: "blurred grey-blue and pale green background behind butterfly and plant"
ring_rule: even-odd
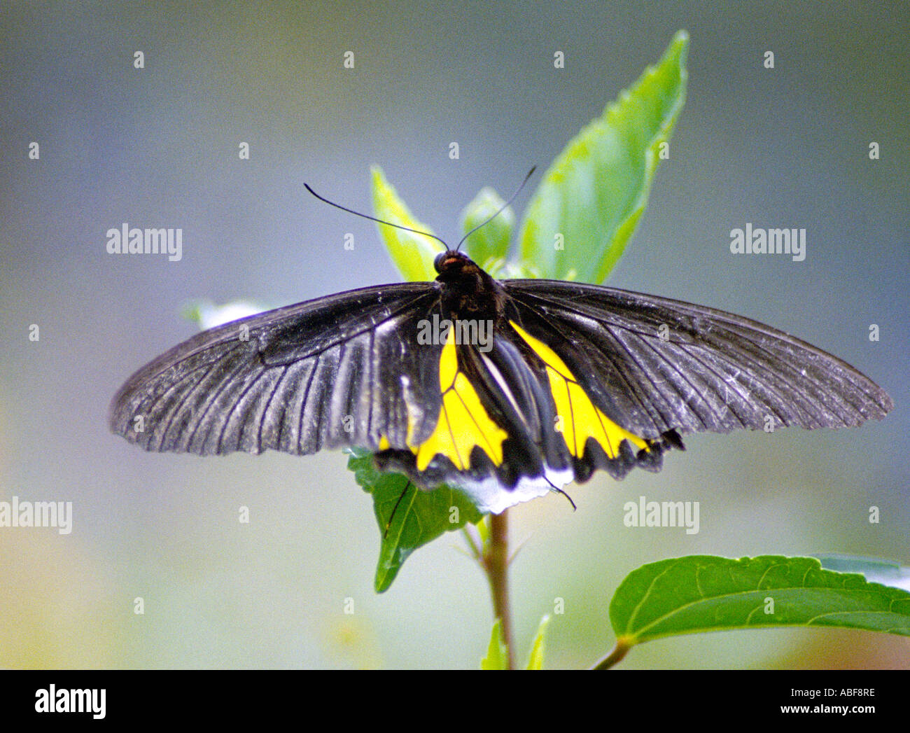
[[[75,513],[69,535],[0,528],[0,666],[477,667],[490,601],[460,535],[416,552],[376,596],[379,530],[342,455],[146,454],[107,433],[107,404],[194,332],[188,301],[273,307],[399,280],[373,225],[305,181],[369,210],[379,164],[416,216],[458,239],[481,187],[508,195],[545,168],[679,28],[688,101],[610,284],[792,332],[866,372],[895,410],[857,430],[693,435],[660,474],[571,488],[577,512],[558,496],[513,510],[519,657],[562,598],[546,665],[591,664],[612,646],[622,577],[663,557],[910,562],[907,6],[461,5],[0,9],[0,500]],[[105,232],[125,221],[182,227],[183,259],[108,255]],[[732,255],[746,222],[804,227],[805,260]],[[700,534],[623,526],[622,504],[642,494],[701,502]],[[622,666],[908,658],[896,636],[809,629],[658,641]]]

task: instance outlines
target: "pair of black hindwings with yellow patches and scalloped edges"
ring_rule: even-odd
[[[456,345],[451,336],[440,355],[437,427],[410,443],[410,452],[380,453],[381,466],[421,485],[493,477],[507,490],[522,480],[547,484],[550,473],[586,481],[598,468],[616,478],[636,465],[660,468],[670,443],[630,433],[602,412],[587,380],[582,385],[550,345],[568,353],[571,341],[556,332],[541,341],[515,321],[500,324],[489,351]]]

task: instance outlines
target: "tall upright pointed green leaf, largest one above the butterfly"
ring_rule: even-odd
[[[682,110],[688,44],[678,32],[661,62],[553,161],[525,212],[522,262],[544,277],[565,280],[574,270],[585,282],[606,278],[642,216],[661,144]]]

